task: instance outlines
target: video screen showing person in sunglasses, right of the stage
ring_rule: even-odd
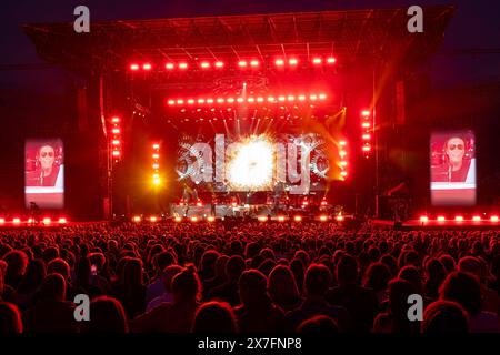
[[[434,132],[430,139],[432,205],[476,204],[476,139],[472,131]]]

